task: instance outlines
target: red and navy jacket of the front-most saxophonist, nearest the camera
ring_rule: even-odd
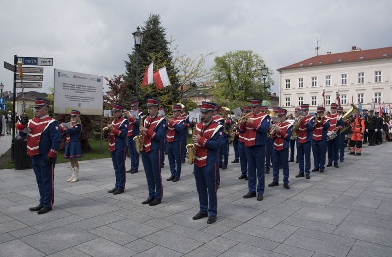
[[[195,165],[198,168],[218,162],[218,152],[222,145],[223,127],[211,121],[209,124],[200,122],[196,126],[196,134],[200,139],[196,143]]]

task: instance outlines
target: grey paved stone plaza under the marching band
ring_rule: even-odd
[[[144,172],[127,173],[126,192],[113,195],[111,159],[82,161],[76,183],[66,182],[70,165],[59,164],[54,208],[44,215],[28,210],[38,204],[33,171],[0,170],[0,256],[391,257],[391,156],[392,143],[365,146],[361,157],[348,155],[339,169],[312,172],[310,180],[296,179],[298,164],[290,163],[291,189],[280,177],[261,202],[242,198],[247,182],[237,178],[239,164],[230,163],[221,170],[212,225],[191,218],[198,196],[189,164],[179,182],[166,181],[165,165],[157,206],[141,204]]]

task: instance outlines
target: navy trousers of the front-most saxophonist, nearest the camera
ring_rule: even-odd
[[[205,214],[208,211],[210,216],[216,216],[218,208],[215,184],[216,170],[216,163],[201,168],[194,165],[194,176],[200,202],[200,213]]]

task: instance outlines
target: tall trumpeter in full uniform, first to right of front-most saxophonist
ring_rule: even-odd
[[[265,187],[265,141],[270,125],[270,117],[261,112],[261,99],[252,99],[254,115],[239,127],[244,133],[245,152],[248,164],[248,193],[243,198],[256,197],[263,200]],[[257,187],[256,187],[256,182]]]

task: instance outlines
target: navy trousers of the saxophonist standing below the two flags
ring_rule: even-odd
[[[151,150],[148,153],[143,151],[141,154],[141,161],[143,162],[146,173],[149,198],[162,199],[163,196],[161,164],[159,161],[160,154],[160,149]]]

